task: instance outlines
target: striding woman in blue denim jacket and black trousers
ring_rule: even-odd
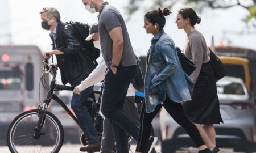
[[[145,77],[145,103],[141,112],[141,126],[137,142],[137,152],[150,152],[152,145],[146,148],[150,137],[150,125],[162,106],[174,120],[187,131],[196,143],[199,152],[211,152],[203,142],[196,126],[185,116],[181,102],[191,100],[193,82],[181,68],[174,41],[163,27],[164,16],[171,13],[168,8],[148,12],[144,18],[144,28],[154,38],[147,54]]]

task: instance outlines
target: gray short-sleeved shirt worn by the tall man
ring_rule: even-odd
[[[126,29],[125,21],[123,20],[118,10],[110,5],[102,7],[102,11],[98,18],[98,32],[100,33],[102,54],[106,61],[106,65],[109,67],[112,63],[112,49],[114,51],[112,46],[114,44],[110,32],[114,28],[120,29],[119,37],[123,37],[123,53],[120,62],[124,67],[137,65],[133,47],[131,46],[130,38]]]

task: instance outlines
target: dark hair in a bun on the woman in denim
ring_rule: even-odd
[[[147,12],[145,18],[148,19],[152,24],[158,24],[160,29],[163,29],[164,25],[166,25],[166,18],[164,16],[170,15],[172,12],[168,8],[158,8],[158,10]]]

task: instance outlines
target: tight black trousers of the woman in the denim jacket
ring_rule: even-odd
[[[146,113],[145,104],[143,104],[142,112],[141,112],[141,126],[139,127],[139,136],[136,151],[144,152],[147,145],[147,140],[150,137],[150,127],[153,118],[160,111],[162,106],[166,109],[166,111],[171,115],[172,118],[182,126],[188,133],[188,135],[192,138],[192,140],[196,143],[197,147],[204,145],[204,141],[201,138],[199,130],[196,126],[188,120],[183,111],[183,107],[181,103],[175,103],[170,100],[169,97],[166,97],[166,101],[163,104],[159,104],[156,106],[154,112]]]

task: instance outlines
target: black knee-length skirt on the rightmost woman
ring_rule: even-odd
[[[220,124],[223,122],[220,114],[217,88],[210,63],[204,63],[193,88],[192,100],[183,103],[187,117],[197,124]]]

